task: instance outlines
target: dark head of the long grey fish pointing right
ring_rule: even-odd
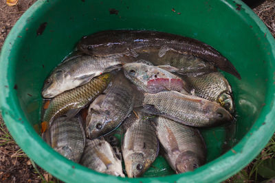
[[[230,112],[219,106],[219,104],[214,105],[211,116],[212,117],[209,119],[211,125],[219,125],[221,123],[233,121],[233,117]]]

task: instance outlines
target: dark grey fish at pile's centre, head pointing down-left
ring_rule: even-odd
[[[114,130],[133,109],[133,88],[122,73],[115,75],[107,93],[89,106],[86,119],[88,138],[97,138]]]

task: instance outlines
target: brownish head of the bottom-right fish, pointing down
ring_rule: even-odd
[[[175,162],[176,172],[184,173],[186,171],[194,171],[201,165],[197,154],[192,151],[184,151],[179,156]]]

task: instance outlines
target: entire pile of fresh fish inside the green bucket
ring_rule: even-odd
[[[42,90],[43,139],[69,160],[135,178],[160,148],[176,173],[193,171],[207,153],[197,127],[234,120],[232,90],[218,69],[241,76],[203,42],[111,30],[83,37],[77,49]]]

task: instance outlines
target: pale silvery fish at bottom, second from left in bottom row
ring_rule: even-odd
[[[101,173],[125,177],[121,160],[118,160],[111,145],[103,138],[87,139],[80,164]]]

